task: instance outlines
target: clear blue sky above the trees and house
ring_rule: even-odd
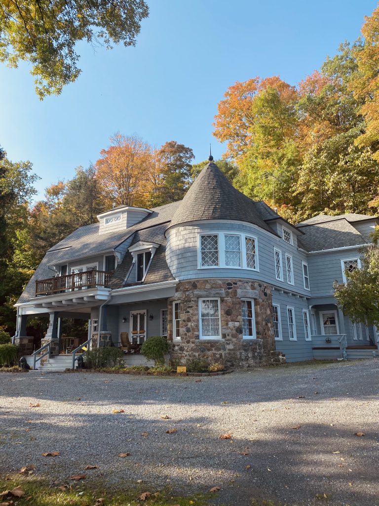
[[[228,86],[279,74],[296,84],[354,40],[376,0],[147,0],[135,48],[96,52],[80,44],[82,74],[59,97],[40,102],[26,64],[0,64],[0,145],[30,160],[37,198],[78,165],[99,158],[115,132],[154,146],[176,140],[196,160],[224,147],[213,137]]]

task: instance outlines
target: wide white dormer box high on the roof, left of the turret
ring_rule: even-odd
[[[133,207],[131,205],[114,207],[97,216],[100,222],[99,234],[126,230],[146,218],[151,212],[150,209],[145,209],[145,207]]]

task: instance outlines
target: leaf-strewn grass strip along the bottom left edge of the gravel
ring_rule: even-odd
[[[30,478],[14,478],[10,480],[0,479],[0,492],[4,490],[13,490],[20,486],[25,492],[22,497],[8,495],[2,497],[4,502],[14,501],[17,506],[140,506],[147,504],[149,506],[207,506],[209,504],[209,494],[195,494],[191,496],[175,496],[169,488],[154,489],[147,485],[136,484],[129,487],[123,486],[122,491],[108,488],[92,486],[82,480],[77,483],[59,483],[53,486],[48,481],[36,480]],[[65,490],[59,487],[67,487]],[[150,492],[151,495],[145,500],[139,497],[144,492]],[[103,499],[103,500],[101,500]]]

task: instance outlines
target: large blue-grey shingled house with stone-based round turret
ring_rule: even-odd
[[[377,218],[319,215],[293,226],[211,160],[183,200],[119,206],[98,220],[49,249],[22,293],[23,354],[35,351],[27,318],[41,314],[51,357],[74,351],[60,335],[64,317],[88,320],[92,347],[119,346],[121,332],[136,345],[167,335],[182,363],[246,367],[377,350],[376,328],[352,324],[333,290],[360,267]]]

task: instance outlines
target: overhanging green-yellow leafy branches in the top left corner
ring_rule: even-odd
[[[0,61],[30,62],[39,98],[59,95],[80,73],[79,41],[135,46],[148,15],[144,0],[0,0]]]

